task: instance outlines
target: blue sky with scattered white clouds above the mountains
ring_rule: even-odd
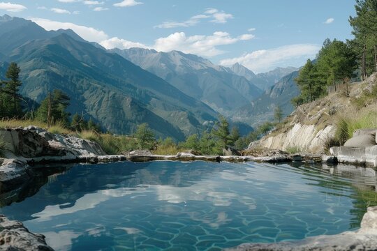
[[[180,50],[255,73],[304,65],[326,38],[353,38],[355,0],[9,0],[0,15],[73,29],[107,49]]]

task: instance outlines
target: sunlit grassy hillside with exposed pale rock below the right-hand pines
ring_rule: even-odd
[[[374,73],[364,82],[350,84],[348,97],[343,86],[324,98],[300,105],[286,121],[251,146],[282,150],[295,148],[300,151],[325,153],[329,146],[337,144],[334,137],[337,125],[342,119],[354,121],[362,127],[369,125],[362,124],[367,116],[372,121],[374,119],[377,125],[377,97],[365,98],[366,93],[377,88],[376,76]]]

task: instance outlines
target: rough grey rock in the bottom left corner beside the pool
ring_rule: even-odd
[[[0,215],[1,250],[40,250],[52,251],[42,234],[32,234],[21,222],[8,220]]]

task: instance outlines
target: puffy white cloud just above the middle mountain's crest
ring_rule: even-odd
[[[176,32],[165,38],[158,38],[155,41],[154,49],[161,52],[179,50],[200,56],[216,56],[224,53],[222,50],[219,50],[217,46],[230,45],[240,40],[249,40],[252,38],[253,35],[250,34],[232,38],[229,33],[223,31],[216,31],[210,36],[186,36],[184,32]]]

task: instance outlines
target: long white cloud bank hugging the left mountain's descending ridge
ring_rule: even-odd
[[[90,42],[100,43],[101,41],[108,39],[108,35],[105,32],[99,31],[98,29],[94,29],[92,27],[77,25],[70,22],[57,22],[43,18],[30,18],[30,20],[35,22],[39,26],[42,26],[47,31],[57,31],[58,29],[72,29],[73,31],[75,31],[75,33],[84,38],[84,40],[88,40]]]

